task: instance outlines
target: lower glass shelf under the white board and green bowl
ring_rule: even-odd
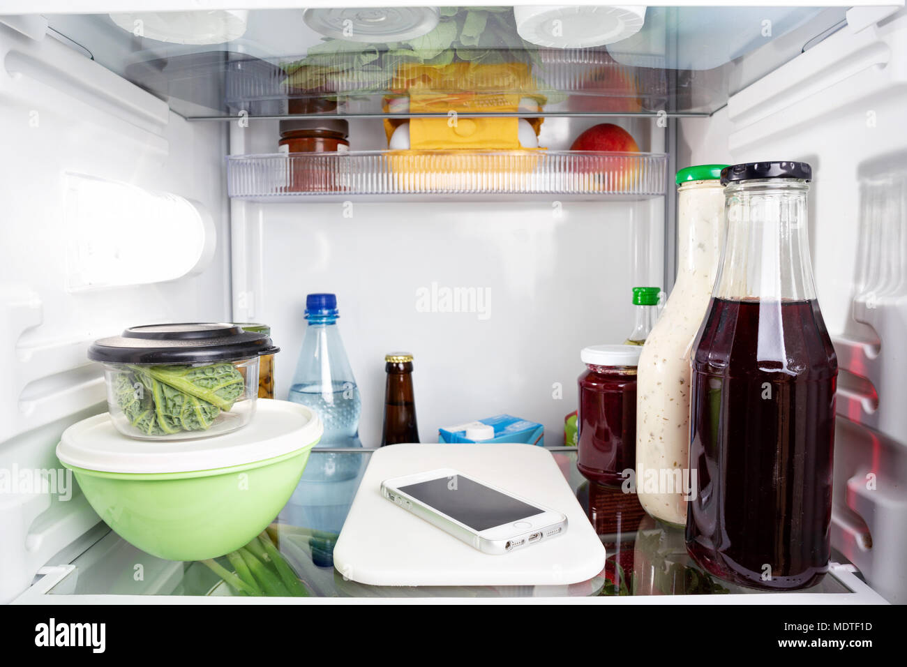
[[[268,528],[279,552],[305,585],[310,596],[329,597],[522,597],[589,595],[693,595],[763,593],[729,584],[705,574],[688,557],[683,530],[662,525],[645,515],[636,495],[590,485],[576,469],[572,447],[553,447],[551,452],[575,490],[580,505],[599,533],[608,551],[605,569],[596,577],[569,586],[457,586],[381,587],[357,584],[338,573],[330,560],[336,535],[312,531],[299,525],[298,508],[290,504]],[[319,456],[356,456],[364,467],[371,451],[313,450],[308,465],[318,465]],[[346,511],[352,495],[346,498]],[[232,570],[226,557],[216,559]],[[108,531],[73,561],[74,569],[49,592],[51,595],[165,595],[238,596],[208,565],[164,561],[145,554]],[[138,573],[141,572],[141,576]],[[837,577],[828,574],[814,587],[797,593],[853,593]]]

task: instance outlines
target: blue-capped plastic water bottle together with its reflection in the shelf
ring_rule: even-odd
[[[312,450],[302,480],[282,515],[291,524],[334,534],[343,526],[364,469],[360,455],[318,452],[320,447],[362,446],[359,441],[362,401],[337,329],[338,317],[335,295],[307,296],[308,326],[289,400],[316,410],[325,425],[325,433]],[[331,564],[333,544],[319,546],[323,563],[318,564]],[[313,555],[316,555],[314,547],[315,544]]]

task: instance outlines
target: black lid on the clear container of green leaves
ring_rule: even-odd
[[[274,354],[266,334],[236,324],[151,324],[95,340],[88,358],[121,364],[194,364]]]

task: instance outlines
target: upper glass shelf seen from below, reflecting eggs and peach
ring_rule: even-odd
[[[649,6],[639,33],[613,44],[565,49],[522,39],[510,7],[441,7],[439,24],[424,39],[390,43],[326,37],[306,24],[301,8],[250,11],[245,33],[221,44],[151,39],[105,14],[48,20],[63,42],[186,118],[381,117],[386,97],[424,89],[424,80],[405,76],[407,67],[443,71],[458,64],[474,65],[472,74],[520,64],[528,75],[435,80],[433,93],[517,93],[537,98],[549,116],[679,116],[714,113],[727,103],[735,59],[819,13],[815,7]]]

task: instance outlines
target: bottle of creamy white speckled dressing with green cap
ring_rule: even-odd
[[[678,278],[637,370],[636,490],[643,509],[687,523],[690,348],[706,316],[725,239],[724,164],[681,169]],[[686,497],[685,497],[686,496]]]

